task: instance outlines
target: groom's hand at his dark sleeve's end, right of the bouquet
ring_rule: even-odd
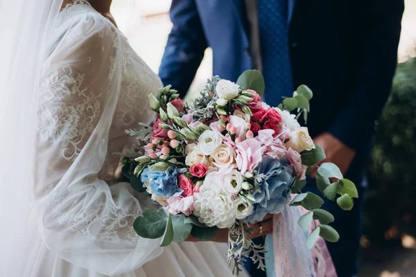
[[[319,136],[315,137],[315,139],[313,139],[313,142],[316,145],[319,145],[324,150],[325,155],[327,156],[327,158],[324,159],[324,161],[321,161],[320,163],[335,163],[336,166],[340,168],[341,173],[343,173],[343,175],[345,174],[345,172],[347,172],[349,164],[355,156],[354,150],[349,148],[344,143],[340,142],[338,139],[336,139],[335,136],[332,136],[329,133],[320,134]],[[311,170],[311,177],[314,178],[317,171],[318,168],[313,167],[313,169]]]

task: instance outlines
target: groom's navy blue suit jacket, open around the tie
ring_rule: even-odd
[[[289,1],[293,85],[314,93],[311,136],[333,134],[356,150],[356,170],[363,168],[395,73],[404,0]],[[173,0],[170,15],[159,75],[182,96],[207,47],[214,75],[236,81],[253,68],[243,0]],[[356,170],[353,164],[350,171]]]

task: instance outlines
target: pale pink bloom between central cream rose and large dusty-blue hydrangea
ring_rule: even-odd
[[[246,139],[237,144],[236,162],[242,174],[252,172],[261,162],[261,157],[266,147],[256,139]]]

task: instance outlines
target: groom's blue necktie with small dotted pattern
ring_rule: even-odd
[[[293,82],[288,49],[288,1],[257,0],[259,33],[266,82],[264,99],[273,107],[292,96]]]

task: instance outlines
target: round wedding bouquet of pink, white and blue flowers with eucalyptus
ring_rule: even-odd
[[[236,83],[208,80],[189,105],[170,86],[157,96],[150,94],[150,107],[158,114],[155,125],[145,127],[144,133],[129,131],[141,134],[139,139],[147,143],[145,154],[124,163],[134,169],[129,176],[132,186],[162,208],[147,209],[137,218],[138,235],[162,237],[163,247],[189,235],[209,240],[218,229],[229,229],[227,256],[234,261],[234,274],[244,257],[264,269],[259,253],[265,246],[250,240],[250,223],[286,206],[309,210],[298,222],[305,232],[313,219],[320,220],[307,240],[309,248],[318,235],[338,240],[338,233],[327,225],[333,216],[320,209],[323,199],[302,193],[306,172],[325,159],[308,129],[297,122],[302,115],[306,121],[312,92],[302,85],[279,107],[270,107],[261,102],[263,90],[259,71],[245,71]],[[333,163],[319,166],[316,181],[325,197],[335,200],[339,194],[338,205],[352,208],[356,187]],[[297,195],[292,199],[292,194]]]

